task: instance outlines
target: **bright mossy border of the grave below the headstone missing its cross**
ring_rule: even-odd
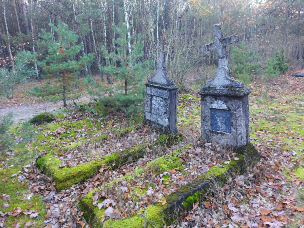
[[[135,127],[131,126],[124,130],[116,133],[116,135],[124,135],[125,133],[133,130]],[[102,137],[103,140],[107,139],[108,135]],[[161,147],[170,147],[174,142],[182,140],[182,136],[179,133],[171,135],[162,135],[154,143],[154,145],[160,145]],[[84,181],[92,177],[96,171],[98,171],[102,166],[106,169],[116,169],[119,166],[126,164],[128,162],[137,161],[142,158],[149,147],[154,145],[149,145],[148,143],[141,143],[130,149],[123,150],[119,153],[110,154],[104,158],[97,158],[93,161],[79,164],[72,168],[62,167],[61,160],[54,157],[53,153],[47,153],[45,156],[38,157],[36,160],[36,166],[41,168],[44,173],[50,175],[52,181],[56,183],[55,187],[57,191],[61,191],[71,187],[73,184]]]

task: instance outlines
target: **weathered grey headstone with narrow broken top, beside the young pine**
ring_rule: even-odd
[[[164,52],[160,52],[157,71],[146,83],[144,119],[163,133],[175,133],[177,90],[164,66]]]

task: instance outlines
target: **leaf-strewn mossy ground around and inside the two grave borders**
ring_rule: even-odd
[[[304,79],[291,76],[291,73],[299,72],[303,73],[299,70],[288,71],[278,78],[253,79],[248,86],[251,91],[250,137],[261,155],[261,161],[248,168],[245,174],[230,178],[222,188],[215,185],[215,194],[200,204],[193,204],[191,211],[183,213],[167,227],[304,227]],[[200,86],[192,88],[198,90]],[[0,101],[0,115],[5,110],[12,110],[16,115],[20,113],[18,120],[21,120],[41,111],[55,111],[62,107],[61,102],[55,104],[27,95],[25,90],[30,85],[17,87],[14,98]],[[88,100],[87,96],[79,97],[79,102]],[[96,114],[70,110],[58,114],[55,112],[54,115],[54,123],[34,126],[32,132],[35,132],[36,140],[22,144],[21,122],[17,122],[11,130],[16,138],[16,149],[8,154],[9,160],[2,161],[0,167],[0,227],[89,227],[83,211],[77,206],[83,195],[136,168],[145,167],[155,157],[191,145],[179,160],[183,163],[183,171],[175,168],[163,174],[154,174],[156,176],[144,173],[146,178],[137,180],[145,185],[167,175],[174,185],[163,180],[163,186],[154,181],[155,189],[148,188],[144,195],[141,194],[139,202],[129,198],[120,207],[121,202],[116,202],[116,206],[114,203],[104,205],[107,209],[114,208],[113,214],[117,217],[129,217],[138,209],[187,184],[213,165],[229,162],[234,156],[200,140],[200,98],[197,91],[182,93],[178,96],[178,130],[185,136],[184,141],[157,153],[147,149],[148,153],[138,162],[116,170],[99,170],[93,178],[57,192],[51,177],[33,165],[41,151],[58,148],[60,152],[54,156],[61,161],[60,167],[73,167],[142,142],[152,143],[158,134],[140,125],[137,130],[124,136],[115,136],[117,129],[137,125],[133,117],[126,117],[121,112],[98,117]],[[82,126],[77,123],[82,123]],[[83,123],[89,127],[84,127]],[[72,136],[72,133],[75,135]],[[95,137],[105,133],[110,137],[102,144],[93,142]],[[81,146],[64,150],[67,144],[75,143]],[[44,149],[40,151],[39,148]],[[135,187],[137,182],[132,181]],[[119,194],[124,197],[127,193],[131,195],[133,186],[125,186],[120,186],[123,192],[108,189],[102,197],[117,200]],[[119,200],[123,201],[123,197],[119,197]]]

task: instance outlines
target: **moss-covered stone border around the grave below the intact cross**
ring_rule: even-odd
[[[162,159],[163,165],[167,166],[171,164],[171,161],[175,161],[175,166],[178,167],[178,157],[182,150],[181,148],[175,150],[171,154],[171,158],[168,159],[168,155],[164,155],[158,159]],[[197,179],[191,181],[187,185],[182,185],[177,192],[173,192],[161,199],[161,202],[155,202],[153,205],[147,206],[146,208],[140,209],[132,217],[124,219],[106,219],[103,223],[102,215],[104,215],[105,209],[98,209],[97,206],[93,205],[92,199],[96,191],[101,190],[95,189],[92,192],[81,198],[79,202],[79,207],[84,211],[85,219],[92,225],[93,228],[141,228],[141,227],[153,227],[162,228],[164,225],[169,226],[177,216],[182,212],[192,209],[195,202],[200,201],[206,194],[212,192],[212,188],[215,184],[223,186],[230,176],[244,173],[246,168],[259,160],[259,155],[257,150],[252,144],[247,144],[242,149],[237,150],[239,154],[238,159],[227,162],[223,162],[220,166],[213,166],[206,173],[199,175]],[[155,164],[159,164],[159,161],[154,160],[147,164],[146,168],[149,168]],[[172,166],[172,165],[171,165]],[[170,168],[174,168],[174,165]],[[162,171],[162,170],[160,170]],[[133,175],[138,175],[143,173],[143,168],[138,168],[133,171],[132,174],[127,174],[122,177],[124,180],[128,181],[132,179]],[[115,180],[118,181],[118,180]],[[115,182],[113,181],[113,182]],[[108,185],[112,185],[110,182]],[[182,211],[180,210],[182,209]]]

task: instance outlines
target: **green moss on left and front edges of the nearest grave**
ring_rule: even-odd
[[[162,173],[165,171],[169,171],[173,168],[183,168],[183,165],[181,163],[181,161],[179,161],[178,159],[180,158],[180,154],[187,150],[187,146],[182,147],[180,149],[174,150],[173,152],[169,153],[169,154],[165,154],[149,163],[147,163],[146,168],[137,168],[136,170],[134,170],[132,173],[126,174],[125,176],[118,178],[110,183],[107,184],[108,187],[111,187],[115,182],[117,181],[130,181],[133,177],[135,176],[140,176],[141,174],[143,174],[146,169],[149,170],[153,170],[153,173]],[[110,227],[112,226],[112,223],[115,222],[115,220],[113,219],[107,219],[102,225],[99,224],[99,221],[102,220],[102,215],[104,215],[104,209],[99,210],[97,206],[93,205],[93,196],[94,193],[96,191],[102,190],[103,187],[100,188],[96,188],[94,189],[92,192],[89,192],[87,195],[85,195],[84,197],[82,197],[80,199],[80,202],[78,204],[78,206],[80,207],[81,211],[84,212],[84,217],[86,219],[87,222],[89,222],[93,227]],[[163,210],[163,208],[160,208],[161,210]],[[154,213],[152,213],[154,212]],[[149,214],[147,214],[147,217],[143,218],[142,215],[140,215],[141,213],[150,213],[151,217],[149,217]],[[162,212],[159,210],[158,206],[153,206],[153,207],[147,207],[146,209],[141,209],[137,212],[136,215],[134,215],[132,218],[132,223],[129,224],[123,224],[120,223],[119,221],[116,221],[117,223],[119,223],[119,226],[121,227],[133,227],[135,226],[133,223],[135,224],[144,224],[144,222],[147,220],[149,221],[150,227],[158,227],[161,224],[164,224],[163,221],[161,221],[161,223],[159,222],[161,220],[161,214]],[[153,221],[154,217],[159,217],[157,219],[156,222]],[[137,219],[136,219],[137,218]],[[140,219],[140,220],[138,220]],[[115,223],[116,223],[115,222]],[[148,224],[145,223],[145,226],[147,226]],[[137,226],[135,226],[137,227]],[[141,226],[139,226],[141,227]],[[148,226],[149,227],[149,226]]]

